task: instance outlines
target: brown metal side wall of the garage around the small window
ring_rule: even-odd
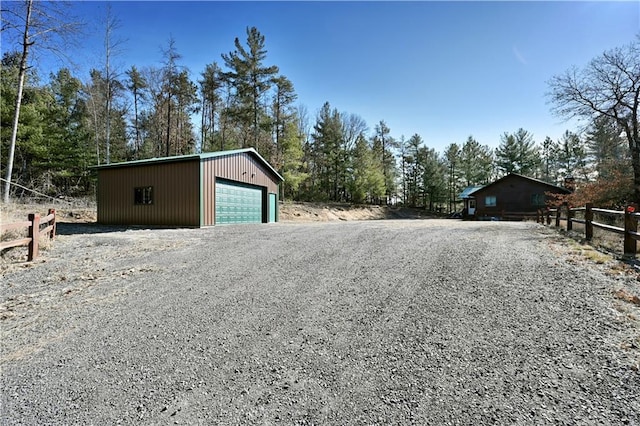
[[[135,205],[134,188],[144,186],[153,204]],[[199,160],[98,170],[98,222],[200,226]]]

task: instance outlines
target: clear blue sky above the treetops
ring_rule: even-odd
[[[74,55],[104,57],[106,3],[75,2],[88,34]],[[575,124],[550,113],[547,81],[583,67],[640,33],[640,2],[160,2],[114,1],[123,40],[114,63],[161,66],[173,37],[195,81],[222,65],[233,41],[255,26],[266,65],[294,84],[312,120],[325,101],[384,120],[391,134],[419,134],[442,152],[469,135],[496,147],[522,127],[540,143]],[[88,78],[85,69],[80,78]]]

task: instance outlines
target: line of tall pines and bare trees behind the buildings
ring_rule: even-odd
[[[536,143],[520,128],[505,132],[495,149],[471,135],[439,153],[418,134],[408,139],[393,135],[384,120],[370,128],[358,114],[329,102],[311,117],[297,103],[293,82],[268,63],[265,37],[255,27],[193,79],[172,38],[159,66],[132,65],[122,73],[113,69],[115,23],[108,16],[104,66],[92,69],[84,81],[61,68],[43,82],[35,68],[25,67],[27,47],[3,54],[1,147],[6,153],[14,144],[15,158],[9,166],[3,156],[7,180],[51,195],[86,195],[95,186],[91,166],[253,147],[285,178],[285,199],[452,211],[465,187],[512,172],[556,185],[571,176],[581,183],[581,196],[601,205],[638,199],[640,66],[638,56],[629,53],[637,51],[637,40],[630,51],[607,53],[618,52],[617,58],[627,61],[617,65],[621,75],[630,76],[631,95],[636,90],[635,112],[626,112],[623,102],[581,113],[569,108],[561,113],[586,118],[588,125],[580,132],[567,130],[559,140],[546,137]],[[607,54],[597,60],[606,62]],[[574,75],[550,82],[556,105],[579,100],[566,88]],[[21,84],[22,93],[16,90]],[[633,107],[630,99],[622,101]]]

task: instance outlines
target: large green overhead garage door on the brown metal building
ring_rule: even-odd
[[[216,225],[262,223],[262,189],[216,181]]]

